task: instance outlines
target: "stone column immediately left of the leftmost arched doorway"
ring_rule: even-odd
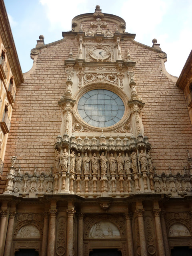
[[[7,228],[4,256],[10,256],[15,215],[16,215],[15,211],[9,212],[9,222],[8,222],[8,228]]]

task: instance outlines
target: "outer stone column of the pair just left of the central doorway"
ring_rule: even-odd
[[[66,243],[66,256],[73,256],[73,216],[76,210],[74,206],[70,206],[67,210],[67,243]]]

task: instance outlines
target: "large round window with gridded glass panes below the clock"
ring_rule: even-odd
[[[96,89],[86,92],[78,102],[78,112],[88,124],[108,127],[116,124],[124,115],[122,99],[109,90]]]

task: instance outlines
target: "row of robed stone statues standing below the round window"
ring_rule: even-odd
[[[107,175],[107,162],[110,168],[110,175],[124,175],[124,172],[126,175],[131,175],[132,172],[133,174],[137,174],[139,168],[140,172],[153,172],[150,150],[148,150],[147,154],[144,150],[140,150],[139,156],[137,156],[136,152],[132,152],[130,156],[126,153],[124,158],[121,153],[118,153],[116,158],[114,154],[111,153],[110,157],[107,159],[104,152],[99,156],[93,153],[91,158],[85,153],[82,158],[80,152],[77,153],[77,156],[74,151],[68,154],[66,148],[64,148],[61,155],[60,151],[56,150],[55,172],[67,172],[68,166],[70,166],[70,173],[76,175],[82,175],[82,170],[84,175],[90,175],[90,169],[92,175],[98,175],[99,169],[101,175]]]

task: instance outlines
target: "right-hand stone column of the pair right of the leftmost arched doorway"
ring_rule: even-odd
[[[48,234],[48,248],[47,248],[47,256],[55,255],[55,230],[56,230],[56,216],[57,210],[51,209],[49,210],[50,214],[50,222],[49,222],[49,234]]]

